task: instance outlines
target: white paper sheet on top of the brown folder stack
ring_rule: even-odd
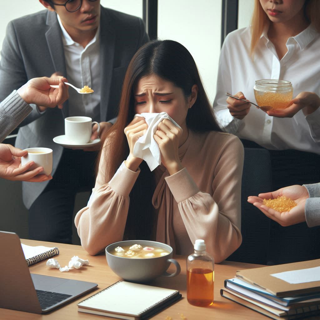
[[[279,272],[270,276],[274,276],[290,284],[319,281],[320,267]]]

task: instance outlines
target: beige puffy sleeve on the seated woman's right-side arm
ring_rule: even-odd
[[[166,177],[178,203],[182,220],[192,243],[204,239],[215,263],[222,262],[242,242],[241,177],[244,149],[241,141],[230,136],[215,165],[213,196],[199,190],[184,168]],[[212,168],[208,169],[208,172]]]

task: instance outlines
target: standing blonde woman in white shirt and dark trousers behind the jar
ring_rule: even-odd
[[[228,34],[222,46],[213,104],[216,116],[244,147],[270,150],[275,190],[320,180],[319,16],[317,0],[255,0],[252,25]],[[226,100],[225,93],[230,92],[255,102],[253,86],[260,79],[291,81],[295,97],[291,105],[264,112],[249,102]],[[300,228],[271,226],[270,262],[314,259],[320,254],[320,248],[305,250],[311,242],[320,243],[319,230]],[[290,252],[289,239],[296,234],[307,238]]]

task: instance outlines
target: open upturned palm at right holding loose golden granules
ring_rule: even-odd
[[[290,211],[278,212],[263,204],[263,199],[276,199],[278,196],[286,196],[294,200],[297,205]],[[283,227],[287,227],[306,221],[304,207],[308,197],[308,190],[305,187],[294,185],[274,192],[260,193],[258,197],[249,196],[248,202],[260,209],[270,219],[275,220]]]

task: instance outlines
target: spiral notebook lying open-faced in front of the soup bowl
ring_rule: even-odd
[[[118,319],[142,320],[180,298],[177,290],[118,281],[78,303],[78,311]]]

